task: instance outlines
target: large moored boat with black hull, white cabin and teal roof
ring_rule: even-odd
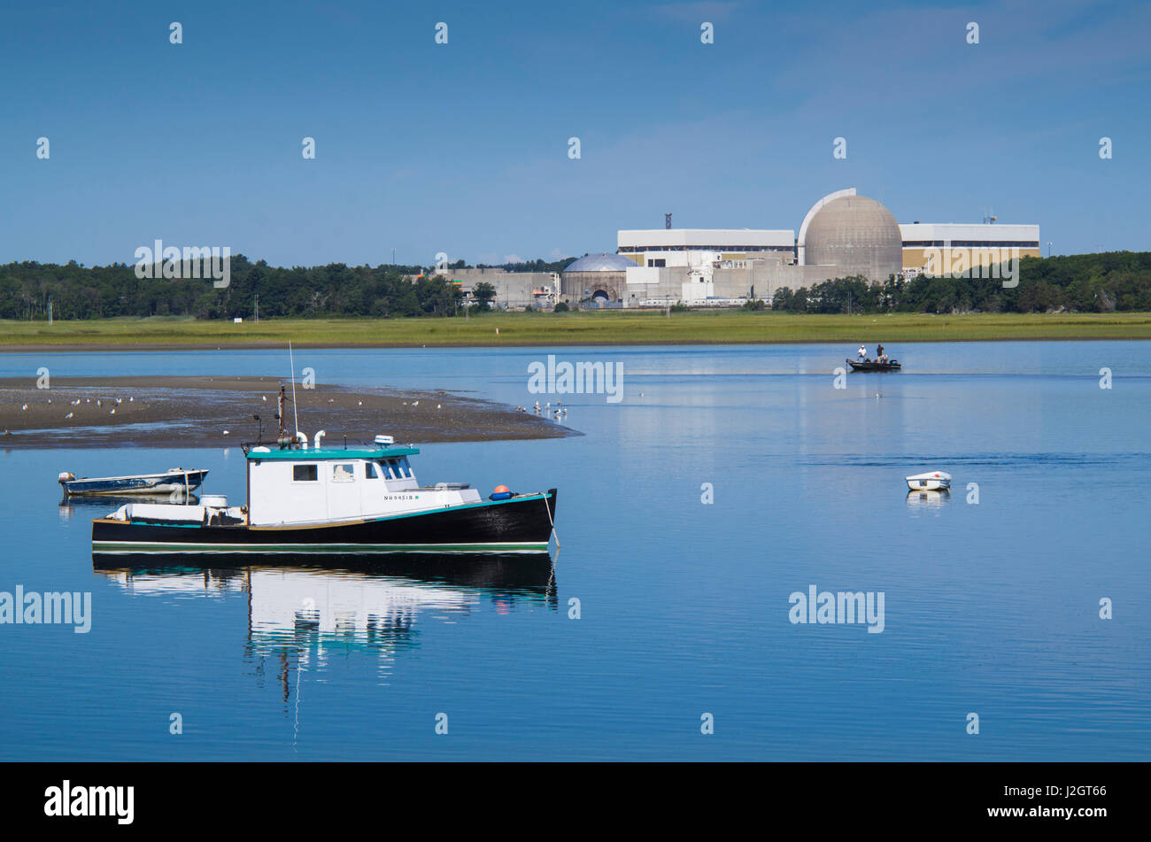
[[[129,503],[92,521],[93,553],[547,552],[556,489],[487,498],[468,484],[421,485],[419,453],[391,436],[349,447],[284,429],[242,445],[247,502],[204,495],[198,505]]]

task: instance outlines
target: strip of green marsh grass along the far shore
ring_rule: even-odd
[[[312,349],[525,349],[895,342],[1151,339],[1151,313],[821,314],[712,309],[668,313],[494,312],[471,319],[265,319],[180,316],[0,321],[0,353],[287,351]]]

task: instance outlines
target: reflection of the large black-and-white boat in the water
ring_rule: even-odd
[[[298,682],[299,672],[357,650],[391,660],[418,645],[421,618],[456,619],[486,605],[557,610],[548,553],[310,554],[290,567],[282,554],[244,559],[243,567],[201,567],[188,556],[93,554],[92,566],[134,595],[246,594],[247,651],[259,673],[266,658],[279,661],[285,699],[289,672]]]

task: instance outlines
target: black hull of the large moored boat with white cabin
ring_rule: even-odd
[[[544,552],[556,489],[421,514],[308,527],[92,521],[93,553]]]

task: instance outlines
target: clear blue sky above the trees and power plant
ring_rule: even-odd
[[[1058,0],[6,5],[0,262],[555,258],[664,212],[798,230],[846,186],[1148,250],[1149,36],[1146,3]]]

